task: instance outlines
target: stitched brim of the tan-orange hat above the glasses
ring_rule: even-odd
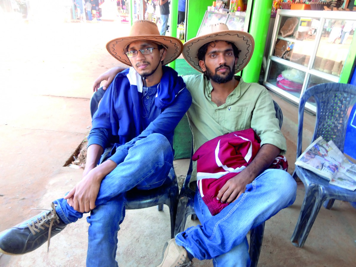
[[[127,58],[125,54],[124,49],[130,43],[136,41],[152,41],[155,43],[161,43],[167,50],[166,57],[163,60],[163,65],[174,61],[182,53],[183,43],[178,38],[164,35],[139,35],[116,38],[106,44],[106,49],[109,51],[111,56],[116,58],[118,61],[126,65],[132,66],[131,62],[129,61],[129,58]]]

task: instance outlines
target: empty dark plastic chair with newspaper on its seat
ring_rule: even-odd
[[[323,83],[310,87],[300,98],[297,158],[302,154],[304,107],[312,96],[316,103],[312,142],[323,136],[327,142],[333,140],[343,152],[349,112],[356,101],[356,87],[351,84]],[[321,205],[324,203],[325,208],[331,209],[335,199],[354,202],[356,192],[331,185],[329,180],[299,166],[295,166],[295,174],[304,183],[305,196],[291,242],[296,247],[303,247]]]

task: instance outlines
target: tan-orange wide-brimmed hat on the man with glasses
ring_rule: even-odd
[[[167,49],[167,55],[163,60],[163,65],[172,62],[179,57],[180,53],[182,53],[183,44],[179,39],[171,36],[159,35],[156,23],[148,20],[138,20],[133,22],[130,35],[111,40],[106,44],[106,49],[108,49],[109,53],[117,60],[132,66],[129,58],[127,58],[125,54],[125,48],[132,42],[146,40],[160,43]]]

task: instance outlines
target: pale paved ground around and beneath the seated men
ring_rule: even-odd
[[[15,23],[1,21],[0,43],[0,231],[47,208],[81,178],[81,169],[63,167],[90,130],[93,80],[117,64],[107,41],[127,34],[127,25],[98,23]],[[284,114],[287,158],[295,158],[297,109],[274,97]],[[312,125],[313,117],[307,117]],[[290,171],[293,164],[290,164]],[[184,175],[187,160],[175,162]],[[354,266],[356,213],[336,201],[321,209],[304,248],[290,243],[304,187],[295,204],[266,222],[259,266]],[[120,266],[156,266],[169,239],[168,209],[127,211],[119,232]],[[197,224],[188,220],[187,226]],[[22,255],[0,255],[0,266],[85,266],[88,224],[71,224],[46,245]],[[212,266],[211,261],[195,261]]]

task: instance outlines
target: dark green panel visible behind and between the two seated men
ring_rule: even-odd
[[[200,74],[190,67],[185,59],[176,59],[176,72],[179,75]],[[192,151],[192,132],[190,131],[187,115],[184,115],[174,130],[173,136],[174,159],[190,158]]]

